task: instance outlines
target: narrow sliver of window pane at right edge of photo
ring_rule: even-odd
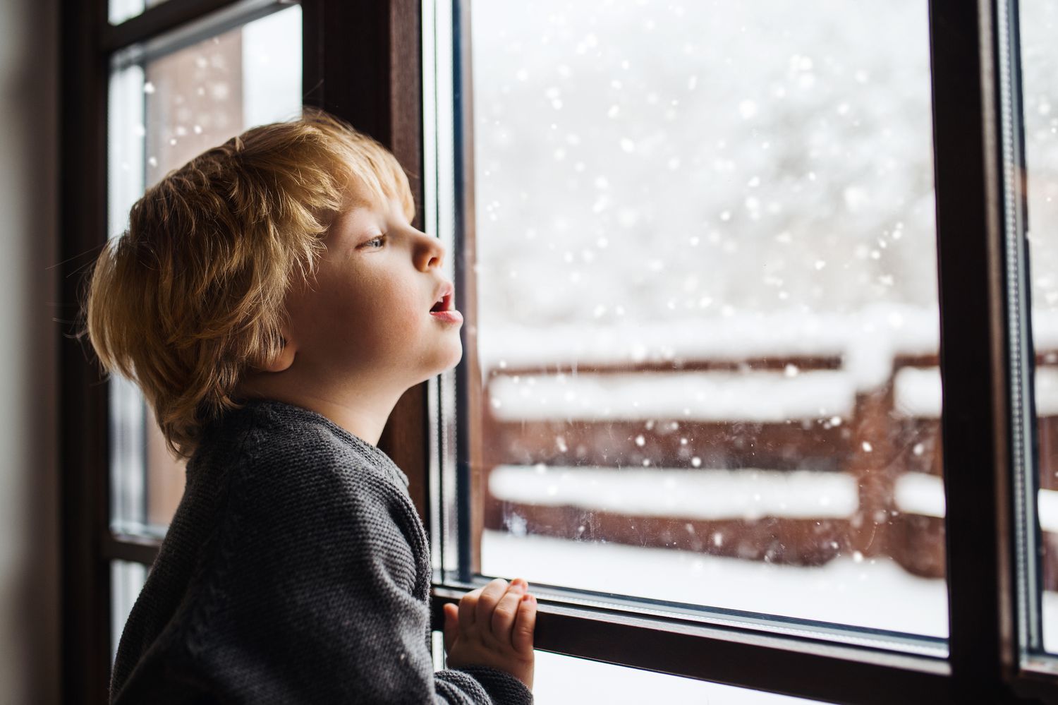
[[[1043,646],[1058,652],[1058,1],[1021,0],[1021,82],[1042,539]]]

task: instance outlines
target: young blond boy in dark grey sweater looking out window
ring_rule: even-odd
[[[434,671],[428,542],[376,446],[462,355],[413,215],[393,155],[306,109],[169,173],[99,255],[89,339],[189,457],[111,702],[532,702],[522,579],[445,605]]]

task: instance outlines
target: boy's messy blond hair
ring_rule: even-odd
[[[415,201],[396,158],[314,108],[207,149],[144,193],[92,270],[84,332],[133,380],[171,451],[241,405],[251,367],[280,351],[284,300],[316,271],[347,199]]]

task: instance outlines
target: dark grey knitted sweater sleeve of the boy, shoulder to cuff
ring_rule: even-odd
[[[504,671],[434,671],[421,522],[381,473],[349,472],[233,486],[186,683],[221,702],[531,704]]]

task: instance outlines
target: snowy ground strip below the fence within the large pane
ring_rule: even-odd
[[[781,565],[675,548],[569,541],[486,530],[481,573],[534,583],[856,627],[947,636],[941,579],[888,558],[840,556],[821,566]]]

